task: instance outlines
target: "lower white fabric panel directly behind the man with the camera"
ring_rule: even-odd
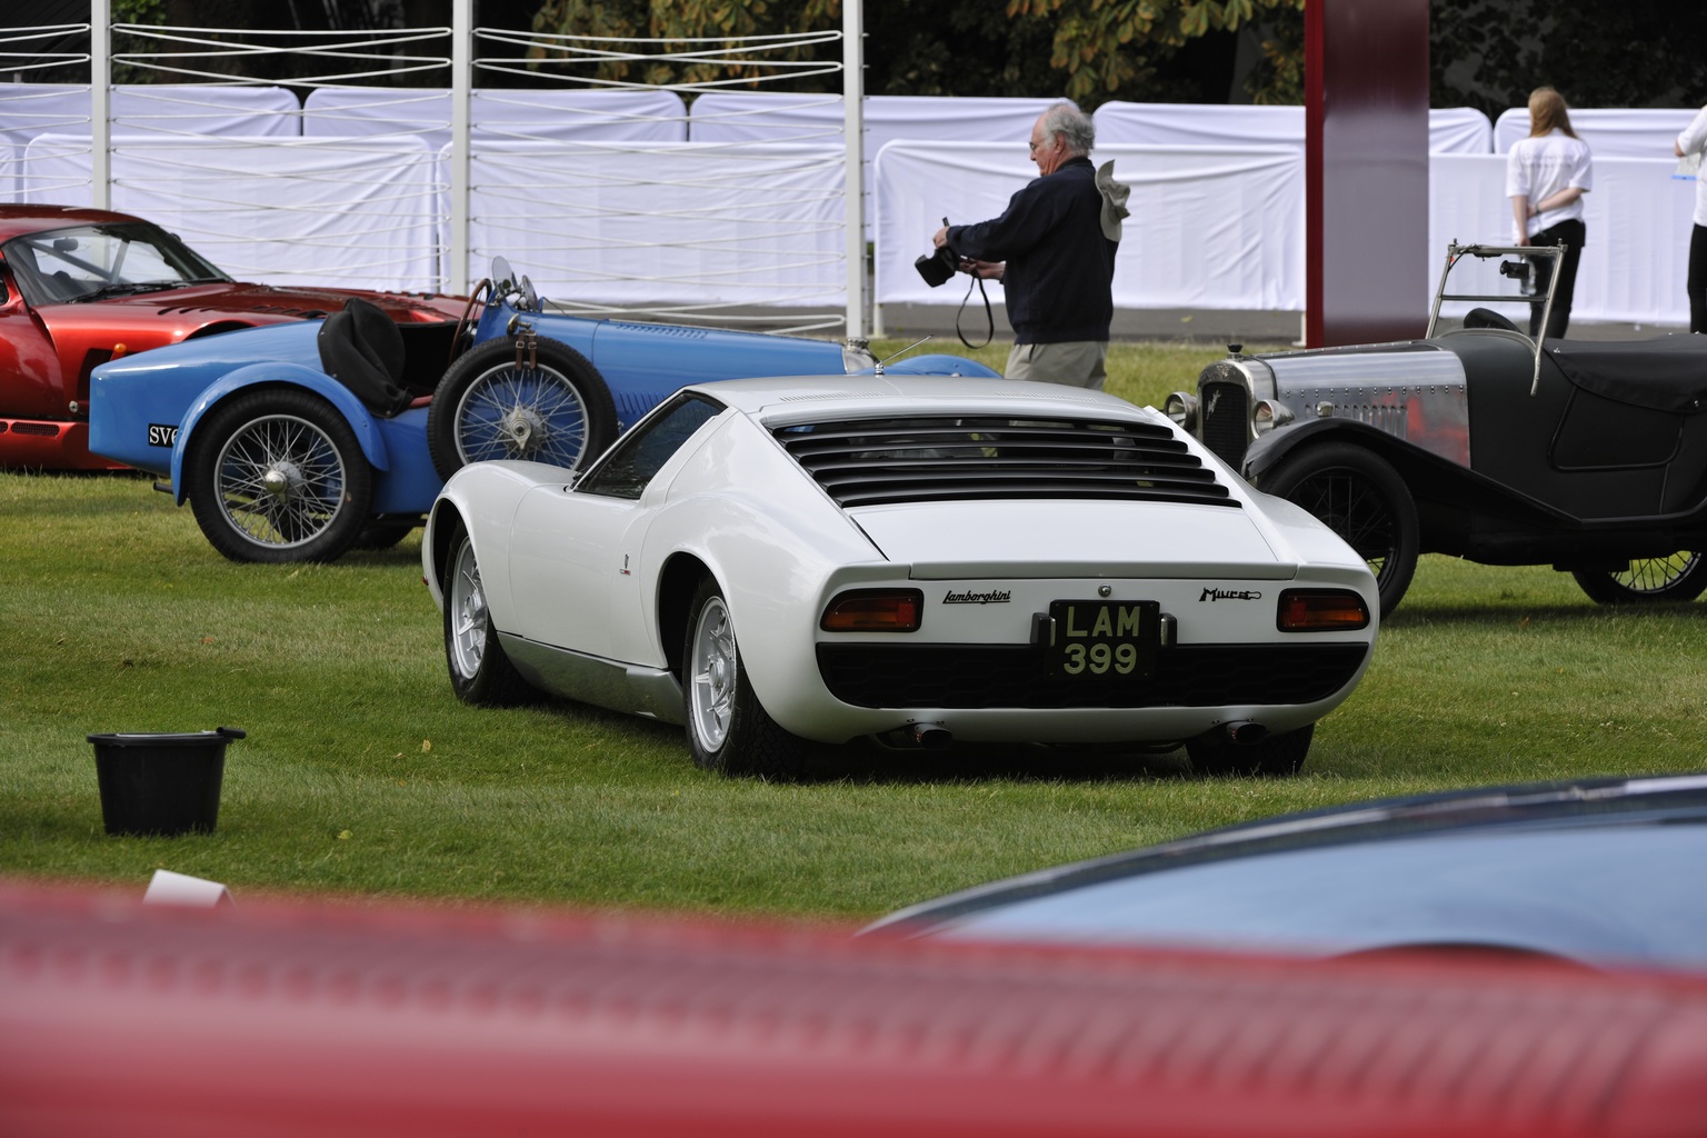
[[[1116,309],[1304,307],[1304,159],[1290,147],[1098,147],[1132,189]],[[877,152],[879,304],[958,305],[970,278],[930,288],[913,259],[942,224],[997,217],[1036,169],[1011,147],[894,142]],[[993,285],[993,282],[992,282]],[[992,287],[992,300],[1000,287]]]

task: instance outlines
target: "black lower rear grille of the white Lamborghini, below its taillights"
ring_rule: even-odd
[[[836,700],[862,708],[1161,708],[1326,700],[1367,645],[1176,645],[1149,679],[1086,682],[1043,671],[1031,645],[819,643]]]

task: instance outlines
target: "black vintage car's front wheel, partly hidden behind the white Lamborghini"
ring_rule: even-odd
[[[1381,616],[1398,607],[1417,573],[1422,524],[1405,479],[1349,442],[1304,447],[1263,476],[1260,490],[1304,507],[1369,563]]]

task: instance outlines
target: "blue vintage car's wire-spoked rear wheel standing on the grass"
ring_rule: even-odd
[[[234,396],[196,427],[189,505],[232,561],[335,561],[374,502],[374,471],[343,415],[277,387]]]

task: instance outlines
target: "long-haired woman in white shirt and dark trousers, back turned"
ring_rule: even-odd
[[[1552,87],[1529,94],[1529,136],[1506,157],[1506,196],[1511,198],[1512,235],[1519,246],[1562,246],[1558,285],[1547,336],[1565,334],[1570,324],[1570,295],[1577,287],[1577,261],[1588,227],[1582,224],[1582,195],[1593,189],[1594,169],[1586,142],[1570,130],[1565,99]],[[1547,292],[1552,263],[1531,258],[1536,292]],[[1541,305],[1529,305],[1529,334],[1541,331]]]

